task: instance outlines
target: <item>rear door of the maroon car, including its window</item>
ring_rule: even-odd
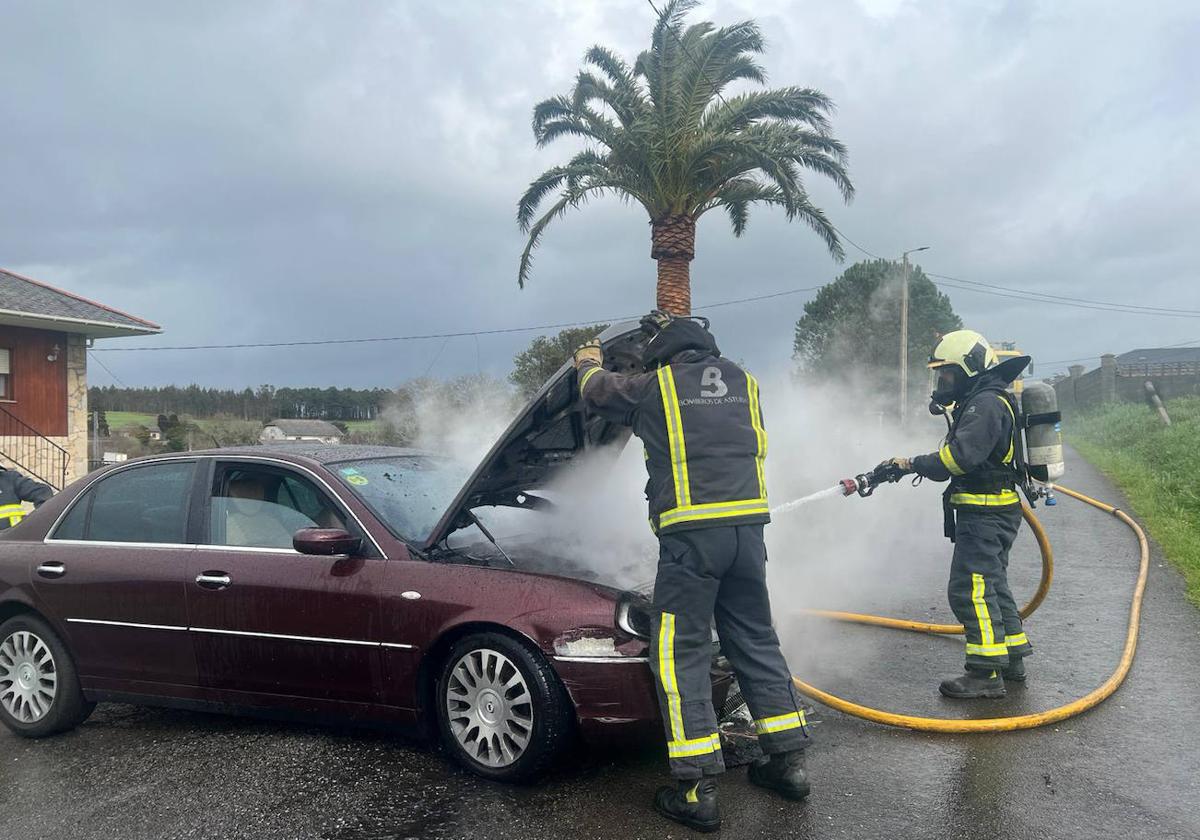
[[[170,458],[104,475],[34,560],[34,590],[62,622],[88,688],[172,694],[198,684],[184,586],[196,466]]]

